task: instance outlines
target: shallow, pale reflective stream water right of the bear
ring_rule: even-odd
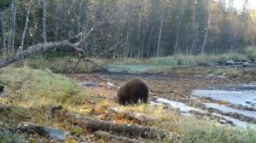
[[[214,109],[214,111],[219,112],[211,112],[212,116],[224,118],[226,123],[233,123],[242,128],[249,127],[256,129],[255,123],[247,123],[237,118],[227,116],[237,114],[256,120],[256,85],[254,83],[242,84],[241,86],[227,89],[195,89],[192,92],[191,100],[198,100],[204,97],[210,99],[210,101],[201,102],[201,104],[206,107],[204,110],[165,98],[157,98],[155,101],[179,109],[184,116],[192,115],[190,112],[193,111],[206,114],[210,113],[208,112],[210,109]]]

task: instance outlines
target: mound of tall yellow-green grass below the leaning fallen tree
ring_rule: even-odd
[[[67,77],[28,67],[3,69],[0,80],[10,85],[6,89],[7,94],[26,102],[28,106],[41,106],[45,101],[51,104],[64,104],[73,100],[74,96],[87,94]]]

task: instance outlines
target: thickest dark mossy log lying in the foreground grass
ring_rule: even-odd
[[[177,138],[177,134],[170,133],[162,129],[154,129],[136,124],[112,123],[91,117],[76,117],[81,127],[91,129],[92,131],[111,131],[117,134],[127,134],[131,137],[142,137],[144,139],[163,139]]]

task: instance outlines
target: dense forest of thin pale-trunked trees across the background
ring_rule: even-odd
[[[89,56],[241,52],[255,41],[255,9],[233,0],[1,0],[1,53],[71,40]]]

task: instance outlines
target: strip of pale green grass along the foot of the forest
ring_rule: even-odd
[[[108,69],[112,72],[166,72],[173,67],[206,65],[207,62],[224,63],[227,60],[249,60],[249,57],[251,54],[253,54],[253,50],[253,48],[248,48],[247,52],[244,52],[244,54],[176,54],[167,57],[155,57],[149,59],[121,58],[115,60],[107,60],[90,58],[90,60],[95,61],[101,66],[108,67]],[[49,69],[54,73],[67,73],[73,69],[77,61],[78,59],[76,58],[72,58],[70,60],[70,57],[65,54],[46,53],[43,55],[34,56],[28,60],[17,62],[15,66],[20,67],[25,65],[34,69]],[[88,69],[86,69],[86,63],[80,62],[79,65],[73,70],[73,72],[84,73],[94,72],[97,70],[102,69],[91,63],[88,64]]]

